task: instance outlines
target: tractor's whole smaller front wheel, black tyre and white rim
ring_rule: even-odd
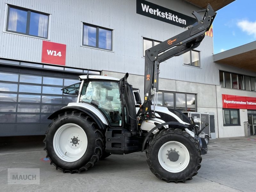
[[[150,171],[166,182],[191,180],[200,169],[198,142],[180,129],[164,129],[154,135],[146,151]]]

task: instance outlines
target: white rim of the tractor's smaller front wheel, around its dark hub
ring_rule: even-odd
[[[179,159],[170,161],[168,157],[169,151],[177,152]],[[188,149],[180,142],[168,141],[162,145],[158,151],[158,161],[160,165],[168,172],[178,173],[186,169],[189,164],[190,156]]]

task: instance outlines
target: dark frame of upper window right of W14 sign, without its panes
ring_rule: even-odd
[[[84,44],[84,25],[96,28],[96,46]],[[113,41],[113,34],[114,34],[114,30],[113,29],[105,28],[105,27],[100,27],[100,26],[97,26],[97,25],[93,25],[93,24],[90,24],[90,23],[84,23],[84,22],[83,22],[82,29],[83,29],[82,46],[96,48],[96,49],[100,49],[100,50],[106,50],[106,51],[113,51],[113,42],[114,42]],[[104,48],[99,47],[99,30],[100,29],[105,29],[105,30],[111,31],[111,49],[104,49]]]

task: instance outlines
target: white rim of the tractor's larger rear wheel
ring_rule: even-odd
[[[53,149],[63,161],[74,162],[80,159],[87,149],[87,136],[82,127],[68,123],[62,125],[53,137]]]

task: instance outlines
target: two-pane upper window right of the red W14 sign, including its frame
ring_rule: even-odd
[[[112,51],[113,30],[84,24],[83,45]]]

